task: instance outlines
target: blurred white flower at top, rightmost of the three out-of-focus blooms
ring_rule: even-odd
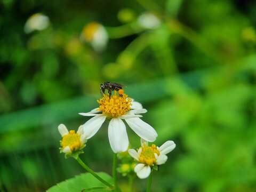
[[[146,12],[139,16],[138,23],[142,28],[156,29],[160,26],[161,21],[154,13]]]

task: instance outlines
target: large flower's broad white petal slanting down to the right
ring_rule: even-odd
[[[156,140],[157,133],[153,127],[146,122],[143,122],[140,118],[127,118],[125,119],[131,129],[146,141],[153,142]]]

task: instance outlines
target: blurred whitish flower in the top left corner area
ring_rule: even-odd
[[[34,30],[44,30],[50,24],[49,18],[42,13],[35,13],[31,15],[25,23],[25,33],[31,33]]]

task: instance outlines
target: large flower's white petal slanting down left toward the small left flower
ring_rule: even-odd
[[[97,133],[101,127],[101,125],[105,122],[105,115],[98,115],[92,117],[83,125],[84,134],[87,139],[90,139],[95,133]]]

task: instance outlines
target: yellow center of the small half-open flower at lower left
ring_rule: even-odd
[[[69,146],[70,150],[73,152],[81,148],[83,143],[81,142],[80,134],[76,133],[74,130],[70,130],[69,133],[62,138],[60,145],[62,149]]]

